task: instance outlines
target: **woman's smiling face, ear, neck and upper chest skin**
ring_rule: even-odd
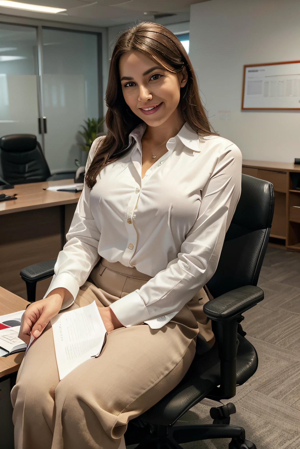
[[[185,67],[180,72],[172,72],[161,65],[153,66],[153,60],[139,50],[120,57],[119,72],[124,100],[132,112],[148,125],[142,138],[144,177],[155,162],[153,159],[167,152],[168,124],[172,122],[174,132],[182,126],[184,120],[178,105],[181,88],[187,83],[188,75]]]

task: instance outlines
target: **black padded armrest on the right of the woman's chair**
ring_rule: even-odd
[[[264,292],[259,287],[247,285],[207,302],[203,312],[213,321],[232,320],[263,299]]]

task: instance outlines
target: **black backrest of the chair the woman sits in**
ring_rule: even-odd
[[[242,175],[242,191],[225,236],[216,273],[207,283],[212,296],[257,285],[274,214],[273,185]]]

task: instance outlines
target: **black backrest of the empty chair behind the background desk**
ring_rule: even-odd
[[[36,136],[10,134],[0,138],[0,176],[9,184],[41,182],[50,176]]]

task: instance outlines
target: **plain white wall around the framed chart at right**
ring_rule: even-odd
[[[190,58],[208,117],[245,159],[300,157],[300,111],[241,111],[243,65],[299,60],[299,18],[299,0],[191,5]]]

